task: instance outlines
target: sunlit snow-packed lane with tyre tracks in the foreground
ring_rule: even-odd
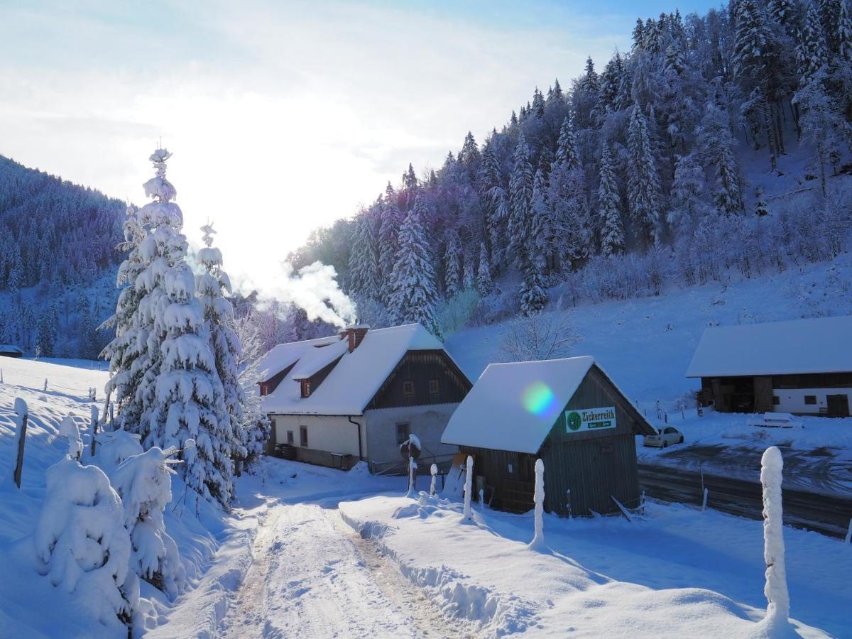
[[[337,509],[271,505],[226,637],[464,636]]]

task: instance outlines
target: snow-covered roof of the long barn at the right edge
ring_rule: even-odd
[[[708,328],[687,377],[852,371],[852,316]]]

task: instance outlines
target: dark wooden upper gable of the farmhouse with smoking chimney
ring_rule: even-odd
[[[470,380],[446,351],[410,350],[377,390],[366,410],[454,404],[463,400],[470,388]]]

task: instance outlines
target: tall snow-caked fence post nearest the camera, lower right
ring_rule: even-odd
[[[760,460],[763,484],[763,558],[766,560],[766,625],[780,630],[789,624],[790,593],[784,567],[784,509],[781,504],[781,470],[784,458],[777,446],[769,446]]]

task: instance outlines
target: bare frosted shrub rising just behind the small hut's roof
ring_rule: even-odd
[[[518,317],[500,343],[509,361],[555,360],[567,356],[579,337],[569,312]]]

